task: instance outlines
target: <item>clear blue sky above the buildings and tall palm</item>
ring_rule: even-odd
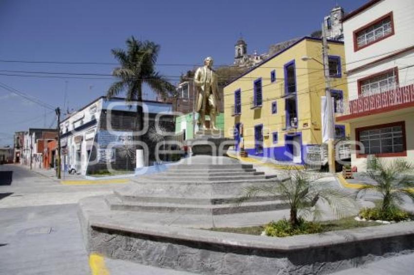
[[[336,3],[350,12],[365,2],[1,0],[0,60],[114,63],[110,50],[124,47],[126,38],[134,35],[161,45],[157,69],[177,82],[182,72],[201,64],[207,55],[215,65],[232,64],[240,33],[249,53],[267,52],[271,44],[319,29]],[[77,109],[104,95],[112,81],[1,74],[22,74],[5,70],[110,74],[113,67],[0,62],[0,84],[60,107],[67,87],[69,107]],[[145,94],[154,99],[151,91]],[[0,88],[0,146],[11,144],[15,131],[49,127],[54,119],[51,110]]]

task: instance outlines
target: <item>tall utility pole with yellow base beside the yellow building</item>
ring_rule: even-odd
[[[328,59],[328,42],[326,40],[325,25],[322,23],[322,56],[323,56],[323,72],[325,76],[325,97],[326,97],[326,113],[328,129],[328,166],[329,172],[335,173],[335,151],[334,151],[334,113],[331,97],[331,79],[329,75],[329,59]]]

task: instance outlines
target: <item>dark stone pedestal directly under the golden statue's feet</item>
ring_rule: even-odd
[[[235,145],[235,140],[223,136],[221,130],[205,129],[197,131],[194,138],[186,140],[186,145],[191,148],[192,155],[223,156],[230,146]]]

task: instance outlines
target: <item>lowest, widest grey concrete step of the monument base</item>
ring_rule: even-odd
[[[125,202],[116,196],[107,196],[106,203],[111,210],[142,211],[156,213],[182,213],[196,215],[226,215],[247,212],[263,212],[286,209],[288,204],[284,201],[271,202],[247,202],[237,204],[221,205],[194,205],[194,204],[172,204],[172,203],[144,203]]]

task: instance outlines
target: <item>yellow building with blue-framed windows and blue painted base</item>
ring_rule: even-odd
[[[339,41],[328,45],[332,95],[339,100],[347,97],[344,46]],[[325,95],[321,49],[321,39],[303,37],[228,84],[226,137],[243,136],[249,155],[279,161],[303,164],[320,152],[320,101]],[[337,137],[349,136],[347,125],[335,128]]]

